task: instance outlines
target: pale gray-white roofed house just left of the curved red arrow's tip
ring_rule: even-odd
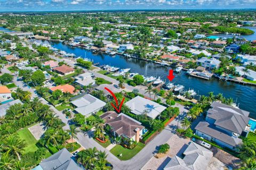
[[[78,95],[71,100],[73,100],[71,101],[71,104],[76,107],[75,112],[81,113],[85,117],[89,117],[93,113],[97,113],[106,105],[104,101],[101,101],[100,99],[89,94]]]

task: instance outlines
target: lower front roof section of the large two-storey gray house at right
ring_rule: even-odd
[[[230,137],[225,131],[215,128],[213,125],[210,125],[208,122],[199,122],[195,130],[203,132],[215,139],[218,139],[222,142],[227,143],[230,146],[236,147],[239,143],[242,143],[242,139]]]

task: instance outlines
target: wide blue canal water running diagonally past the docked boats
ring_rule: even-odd
[[[94,63],[100,65],[111,65],[120,67],[121,69],[131,68],[130,72],[139,73],[147,76],[161,77],[167,81],[166,76],[172,67],[164,67],[159,64],[138,60],[136,58],[127,58],[121,55],[115,57],[106,54],[93,54],[90,50],[79,47],[70,47],[62,43],[51,43],[51,45],[60,50],[64,50],[67,53],[74,53],[77,57],[87,57],[93,60]],[[146,69],[147,67],[147,69]],[[189,77],[185,71],[181,71],[179,74],[175,74],[173,79],[175,84],[181,84],[185,86],[185,89],[194,89],[199,95],[207,95],[210,91],[213,91],[215,95],[218,93],[223,94],[226,98],[233,98],[234,102],[239,105],[239,108],[250,112],[250,117],[256,118],[256,87],[243,86],[241,84],[219,81],[215,78],[211,80],[203,80],[195,77]]]

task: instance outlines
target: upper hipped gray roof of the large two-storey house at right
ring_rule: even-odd
[[[249,112],[241,109],[224,105],[214,101],[211,109],[207,112],[207,117],[216,120],[215,125],[227,129],[231,132],[241,134],[248,124],[250,118]]]

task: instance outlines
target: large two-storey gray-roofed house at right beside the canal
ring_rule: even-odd
[[[250,130],[248,116],[247,111],[214,101],[206,113],[205,121],[197,124],[196,134],[221,147],[236,150],[242,144],[242,139],[238,137],[247,137]]]

